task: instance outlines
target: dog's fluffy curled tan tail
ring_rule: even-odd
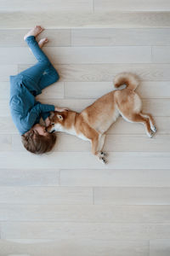
[[[114,79],[115,88],[120,87],[122,84],[126,84],[130,90],[135,90],[139,85],[139,79],[133,73],[118,73]]]

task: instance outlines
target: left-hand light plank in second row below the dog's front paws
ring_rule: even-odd
[[[69,187],[0,187],[0,203],[92,204],[93,189]]]

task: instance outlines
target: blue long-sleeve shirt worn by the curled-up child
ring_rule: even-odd
[[[23,75],[10,76],[9,107],[12,119],[20,134],[26,133],[39,123],[41,117],[46,119],[54,105],[41,104],[26,87]]]

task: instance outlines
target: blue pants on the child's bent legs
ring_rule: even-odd
[[[48,57],[42,52],[34,36],[27,37],[26,43],[38,62],[20,74],[24,77],[27,89],[34,96],[37,96],[42,92],[42,89],[50,84],[54,84],[59,79],[59,73],[57,73]]]

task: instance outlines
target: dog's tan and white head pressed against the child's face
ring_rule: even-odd
[[[51,112],[49,119],[50,125],[46,128],[46,130],[50,133],[54,131],[60,131],[60,127],[65,125],[65,119],[67,118],[68,111],[65,112]]]

